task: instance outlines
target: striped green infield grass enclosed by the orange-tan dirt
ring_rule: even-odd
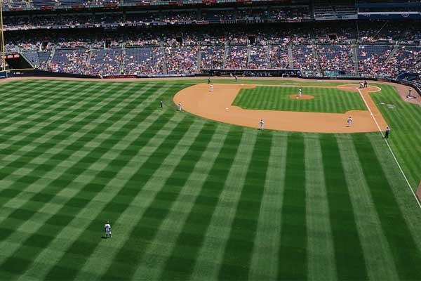
[[[314,96],[311,100],[290,98],[298,94],[293,86],[256,86],[241,89],[233,105],[248,110],[281,110],[345,113],[349,110],[366,110],[359,93],[341,91],[336,88],[302,88],[304,95]]]

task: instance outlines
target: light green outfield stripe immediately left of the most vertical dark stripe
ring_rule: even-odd
[[[281,233],[282,194],[286,169],[287,137],[275,133],[265,182],[265,192],[258,218],[258,228],[253,249],[249,280],[269,280],[278,270],[278,249]]]

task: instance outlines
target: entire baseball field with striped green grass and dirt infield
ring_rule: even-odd
[[[0,279],[421,280],[419,105],[388,84],[205,83],[0,84]],[[298,87],[313,98],[290,98]],[[358,118],[330,133],[216,122],[189,99],[177,110],[187,89],[234,89],[228,113],[374,122],[369,97],[392,131],[352,131]]]

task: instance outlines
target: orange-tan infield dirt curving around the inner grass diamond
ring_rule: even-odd
[[[269,85],[267,85],[269,86]],[[260,119],[265,121],[265,129],[282,131],[302,131],[314,133],[357,133],[378,131],[368,110],[352,110],[345,113],[291,112],[275,110],[244,110],[232,103],[240,89],[254,88],[248,84],[213,84],[209,91],[208,84],[196,84],[175,94],[175,104],[182,103],[182,109],[194,115],[213,119],[218,122],[248,126],[258,129]],[[341,85],[338,89],[356,91],[356,85]],[[304,87],[302,87],[304,88]],[[327,87],[326,87],[327,88]],[[375,115],[380,128],[387,126],[368,92],[380,91],[369,86],[361,91],[370,109]],[[347,126],[347,118],[352,116],[354,122]]]

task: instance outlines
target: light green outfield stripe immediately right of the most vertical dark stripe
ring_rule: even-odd
[[[338,280],[321,143],[305,136],[305,189],[309,280]]]

